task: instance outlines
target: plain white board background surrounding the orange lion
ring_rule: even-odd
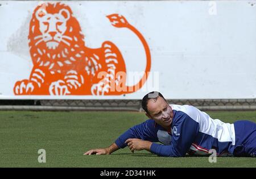
[[[39,2],[0,1],[0,99],[141,99],[152,90],[171,99],[256,96],[256,1],[62,2],[79,20],[87,47],[110,40],[121,50],[127,72],[143,71],[146,57],[138,38],[105,17],[125,16],[151,50],[147,84],[125,96],[15,96],[15,82],[32,69],[27,35]]]

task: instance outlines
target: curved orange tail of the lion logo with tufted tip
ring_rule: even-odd
[[[118,28],[129,28],[131,31],[133,31],[139,38],[139,40],[141,40],[144,50],[146,52],[146,69],[144,70],[144,74],[143,77],[141,78],[141,80],[133,85],[133,86],[127,86],[128,90],[125,91],[124,93],[134,93],[135,91],[139,90],[142,88],[142,86],[144,85],[144,83],[147,81],[148,75],[150,73],[150,68],[151,68],[151,55],[150,55],[150,49],[147,45],[146,40],[144,39],[144,37],[142,36],[141,32],[139,32],[135,27],[131,26],[131,24],[129,24],[127,22],[127,20],[125,19],[124,16],[122,15],[118,15],[118,14],[111,14],[108,15],[107,18],[109,18],[110,22],[112,23],[112,26],[114,27],[118,27]]]

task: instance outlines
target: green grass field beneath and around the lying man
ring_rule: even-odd
[[[256,111],[208,111],[212,118],[232,123],[256,122]],[[147,117],[135,112],[0,111],[0,167],[255,167],[255,158],[158,157],[147,151],[119,149],[112,155],[84,156],[92,148],[108,147],[124,131]],[[38,150],[46,163],[38,163]]]

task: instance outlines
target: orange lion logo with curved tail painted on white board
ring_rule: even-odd
[[[136,85],[126,86],[126,77],[115,74],[126,73],[125,61],[115,44],[105,41],[97,49],[86,47],[80,24],[70,7],[57,2],[39,5],[34,10],[28,35],[34,66],[29,79],[15,83],[14,94],[121,95],[140,89],[151,66],[146,40],[123,16],[107,17],[114,27],[129,28],[142,41],[147,65]]]

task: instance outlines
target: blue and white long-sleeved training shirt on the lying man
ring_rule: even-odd
[[[181,157],[186,153],[209,155],[210,149],[216,149],[218,156],[232,155],[235,145],[234,124],[212,119],[193,106],[170,106],[174,116],[169,132],[148,119],[119,136],[115,144],[125,148],[127,139],[137,138],[152,141],[150,151],[159,156]]]

